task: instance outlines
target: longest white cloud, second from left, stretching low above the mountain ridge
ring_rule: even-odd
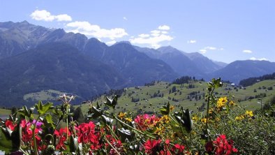
[[[87,36],[93,36],[96,38],[110,38],[111,40],[114,40],[115,38],[122,38],[124,36],[128,36],[125,29],[101,29],[101,27],[99,27],[98,25],[90,24],[89,22],[70,22],[66,24],[66,27],[71,28],[66,29],[66,31],[80,33]]]

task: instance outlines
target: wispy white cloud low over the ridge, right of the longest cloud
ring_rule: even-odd
[[[149,44],[149,45],[151,45],[151,47],[158,48],[158,47],[161,47],[161,45],[159,45],[159,43],[161,43],[163,41],[170,41],[172,39],[173,39],[172,36],[161,34],[159,36],[151,36],[149,38],[142,38],[142,37],[131,38],[130,42],[133,44],[135,44],[135,43]]]

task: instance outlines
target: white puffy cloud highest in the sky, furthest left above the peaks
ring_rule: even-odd
[[[46,22],[52,22],[53,20],[61,21],[72,21],[72,17],[67,14],[51,15],[47,10],[35,10],[31,13],[31,18],[34,20],[44,20]]]

